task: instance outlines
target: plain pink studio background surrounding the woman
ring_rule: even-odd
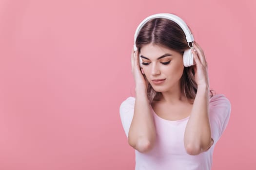
[[[0,170],[133,170],[119,118],[138,24],[174,13],[232,104],[212,170],[256,170],[255,0],[0,0]]]

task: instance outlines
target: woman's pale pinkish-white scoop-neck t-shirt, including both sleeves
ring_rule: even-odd
[[[135,170],[211,170],[214,147],[228,124],[231,104],[223,94],[214,95],[209,102],[214,144],[208,151],[198,155],[188,154],[184,147],[184,132],[189,117],[174,121],[162,119],[151,107],[156,127],[156,142],[150,152],[140,153],[135,150]],[[134,97],[128,97],[120,105],[120,118],[127,137],[134,105]]]

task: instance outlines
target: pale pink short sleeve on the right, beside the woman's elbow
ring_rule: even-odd
[[[209,112],[212,138],[216,144],[228,125],[231,103],[223,94],[217,94],[210,99]]]

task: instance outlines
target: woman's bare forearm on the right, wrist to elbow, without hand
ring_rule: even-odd
[[[197,95],[185,129],[184,145],[191,154],[206,151],[211,145],[209,87],[207,85],[197,88]]]

